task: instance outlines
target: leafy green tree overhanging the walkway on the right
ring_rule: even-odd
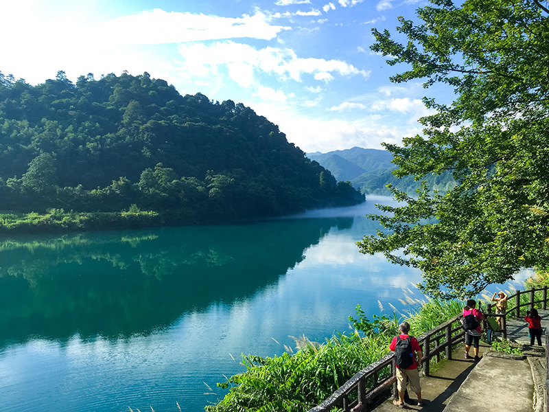
[[[420,268],[431,295],[476,295],[520,268],[549,263],[549,26],[535,0],[430,0],[420,23],[399,19],[395,41],[373,30],[376,52],[409,69],[393,82],[424,79],[455,91],[451,104],[424,98],[437,113],[423,135],[386,144],[397,176],[421,180],[450,171],[458,185],[430,196],[425,183],[403,207],[377,217],[384,231],[358,242]],[[544,2],[545,3],[545,2]]]

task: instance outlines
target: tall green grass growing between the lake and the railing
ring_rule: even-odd
[[[218,383],[219,387],[229,389],[229,393],[218,404],[205,409],[208,412],[307,411],[357,371],[387,354],[390,340],[403,319],[410,323],[413,334],[419,335],[462,309],[462,302],[428,301],[409,314],[373,315],[370,320],[357,306],[358,319],[349,317],[355,328],[349,335],[336,334],[323,344],[310,342],[303,336],[296,339],[295,354],[289,350],[272,358],[242,356],[246,371]],[[387,367],[380,377],[389,374]]]

